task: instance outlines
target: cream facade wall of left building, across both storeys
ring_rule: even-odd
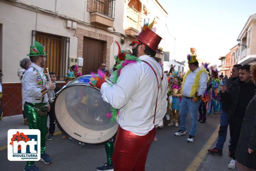
[[[125,34],[125,30],[122,26],[124,20],[124,1],[125,0],[116,0],[114,21],[115,32],[122,34]],[[54,0],[22,0],[22,2],[55,12]],[[64,14],[67,17],[73,17],[77,20],[84,20],[90,23],[90,13],[86,10],[85,5],[87,6],[87,4],[84,3],[84,0],[76,0],[76,3],[73,2],[75,1],[57,0],[57,11],[59,14]],[[72,58],[78,56],[78,38],[76,30],[67,28],[66,19],[62,17],[36,13],[29,9],[0,2],[0,24],[3,24],[3,83],[20,82],[17,77],[19,61],[27,57],[26,54],[29,52],[29,46],[32,41],[32,30],[36,29],[40,32],[69,37],[69,56]],[[95,28],[94,26],[85,26],[84,24],[77,23],[77,27],[111,36],[113,37],[113,41],[120,39],[120,36],[105,31],[104,29]],[[111,43],[108,66],[110,69],[115,63],[113,56],[116,55],[116,53],[117,46]]]

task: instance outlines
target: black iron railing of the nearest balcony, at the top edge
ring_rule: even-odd
[[[115,18],[116,0],[93,0],[92,12],[99,12],[108,17]]]

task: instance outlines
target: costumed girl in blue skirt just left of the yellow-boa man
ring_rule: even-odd
[[[171,122],[168,124],[168,126],[172,126],[175,124],[175,127],[178,127],[178,116],[179,116],[179,110],[180,110],[180,101],[182,97],[181,93],[181,83],[180,83],[180,74],[178,71],[174,71],[172,73],[173,80],[171,84],[171,91],[172,91],[172,105],[170,105],[171,108]]]

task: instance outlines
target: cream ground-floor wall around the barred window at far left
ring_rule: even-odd
[[[11,12],[10,12],[11,11]],[[77,56],[77,38],[65,20],[0,2],[0,23],[3,24],[3,83],[20,82],[19,61],[29,53],[32,30],[70,38],[70,56]]]

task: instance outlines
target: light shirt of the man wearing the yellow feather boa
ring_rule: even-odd
[[[202,70],[200,67],[196,69],[195,71],[191,71],[187,76],[183,87],[183,96],[190,97],[191,88],[195,82],[195,76],[197,73]],[[199,80],[199,87],[196,92],[199,93],[199,95],[203,95],[205,90],[207,89],[207,74],[205,72],[202,72],[200,75]]]

